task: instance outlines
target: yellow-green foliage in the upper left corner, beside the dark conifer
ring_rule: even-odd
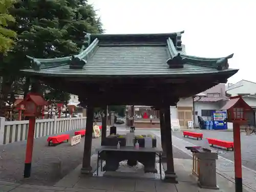
[[[13,6],[13,0],[0,0],[0,53],[6,54],[14,45],[16,32],[7,29],[9,22],[14,22],[14,17],[8,10]]]

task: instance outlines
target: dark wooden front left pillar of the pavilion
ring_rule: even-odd
[[[91,167],[91,150],[92,150],[92,136],[93,136],[93,121],[94,111],[93,106],[87,106],[87,120],[86,120],[86,137],[84,138],[84,150],[82,159],[82,174],[92,175]]]

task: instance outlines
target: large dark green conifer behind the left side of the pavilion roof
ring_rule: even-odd
[[[19,1],[10,9],[10,14],[16,16],[16,22],[8,28],[17,32],[17,41],[13,51],[0,60],[2,103],[6,102],[15,79],[24,78],[19,70],[30,65],[26,55],[56,58],[77,54],[86,32],[103,32],[93,6],[87,1]],[[25,93],[30,87],[28,80],[23,86]]]

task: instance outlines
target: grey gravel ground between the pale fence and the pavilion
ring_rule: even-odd
[[[75,131],[66,132],[74,135]],[[100,145],[101,139],[92,140],[92,154]],[[0,180],[31,183],[37,185],[51,185],[60,178],[52,173],[52,163],[61,162],[62,177],[71,172],[82,162],[84,137],[81,143],[71,146],[69,143],[61,143],[56,146],[48,146],[47,137],[36,138],[33,148],[32,171],[30,178],[23,178],[24,160],[26,153],[26,141],[0,145]],[[2,166],[2,168],[1,168]]]

